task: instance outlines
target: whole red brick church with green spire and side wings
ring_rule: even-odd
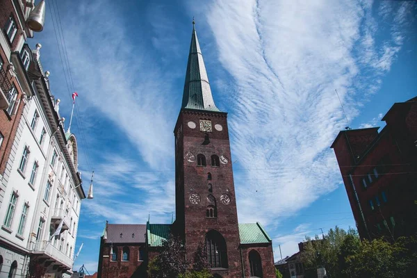
[[[176,220],[106,224],[98,277],[147,277],[147,263],[172,233],[185,243],[187,258],[206,244],[214,277],[274,278],[270,236],[259,222],[238,223],[227,113],[213,101],[194,26],[174,137]]]

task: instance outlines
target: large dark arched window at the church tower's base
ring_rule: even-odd
[[[218,231],[208,231],[206,246],[208,265],[211,268],[228,268],[226,241]]]

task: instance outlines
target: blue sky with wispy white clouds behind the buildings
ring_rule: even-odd
[[[229,113],[239,221],[265,226],[275,260],[279,245],[287,256],[320,228],[354,227],[329,149],[347,125],[334,90],[352,128],[382,126],[393,102],[417,95],[417,5],[344,2],[48,1],[44,31],[29,43],[42,44],[67,119],[79,93],[72,132],[85,190],[95,170],[74,268],[97,270],[106,220],[171,221],[193,16],[215,103]]]

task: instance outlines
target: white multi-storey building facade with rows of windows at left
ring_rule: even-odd
[[[22,99],[15,155],[1,180],[0,278],[26,277],[42,269],[45,277],[70,277],[85,198],[76,138],[65,133],[59,102],[39,61],[40,46],[31,51],[24,44],[22,61],[26,55],[31,93]]]

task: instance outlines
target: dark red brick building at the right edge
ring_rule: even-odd
[[[417,232],[417,97],[396,103],[386,126],[346,130],[332,144],[361,238]]]

